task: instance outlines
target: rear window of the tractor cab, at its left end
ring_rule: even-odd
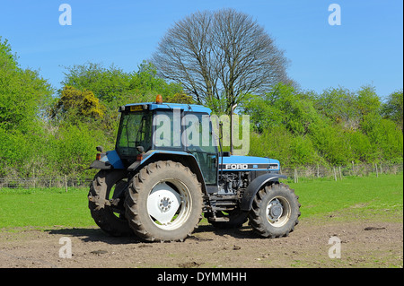
[[[120,156],[136,156],[137,146],[147,152],[152,148],[152,115],[150,112],[122,113],[117,138]]]

